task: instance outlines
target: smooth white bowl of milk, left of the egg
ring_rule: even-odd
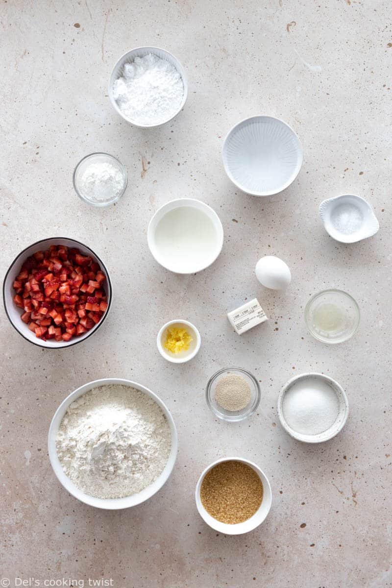
[[[155,260],[175,273],[196,273],[215,262],[223,227],[210,206],[179,198],[161,206],[150,220],[148,246]]]

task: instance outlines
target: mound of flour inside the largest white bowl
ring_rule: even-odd
[[[121,498],[158,478],[171,443],[169,423],[155,400],[113,385],[86,392],[68,407],[56,449],[79,489],[98,498]]]

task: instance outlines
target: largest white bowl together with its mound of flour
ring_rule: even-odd
[[[81,502],[124,509],[148,500],[175,465],[177,432],[151,390],[119,378],[95,380],[56,410],[48,435],[59,482]]]

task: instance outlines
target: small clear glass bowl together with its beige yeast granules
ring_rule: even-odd
[[[260,397],[259,382],[243,368],[220,369],[207,383],[207,405],[214,415],[228,422],[253,415]]]

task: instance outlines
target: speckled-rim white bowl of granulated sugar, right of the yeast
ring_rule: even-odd
[[[343,429],[349,401],[336,380],[321,373],[303,373],[280,390],[277,410],[280,423],[294,439],[321,443]]]

